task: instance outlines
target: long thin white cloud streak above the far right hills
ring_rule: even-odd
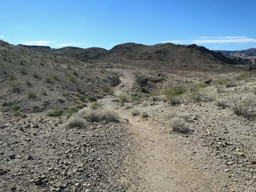
[[[222,43],[239,43],[246,44],[256,42],[253,38],[226,38],[226,39],[193,39],[193,44],[222,44]]]

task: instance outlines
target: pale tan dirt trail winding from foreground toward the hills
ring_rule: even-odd
[[[132,71],[117,71],[123,74],[121,79],[127,89],[131,88]],[[115,94],[120,89],[118,86]],[[204,148],[188,145],[188,139],[181,135],[164,134],[162,127],[152,120],[133,117],[121,108],[117,110],[121,119],[129,121],[136,140],[127,160],[130,176],[124,178],[131,183],[129,191],[226,191],[221,171],[211,170],[211,162],[202,156]]]

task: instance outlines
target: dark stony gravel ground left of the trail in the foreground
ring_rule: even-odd
[[[125,191],[125,123],[63,128],[65,118],[1,114],[1,191]]]

